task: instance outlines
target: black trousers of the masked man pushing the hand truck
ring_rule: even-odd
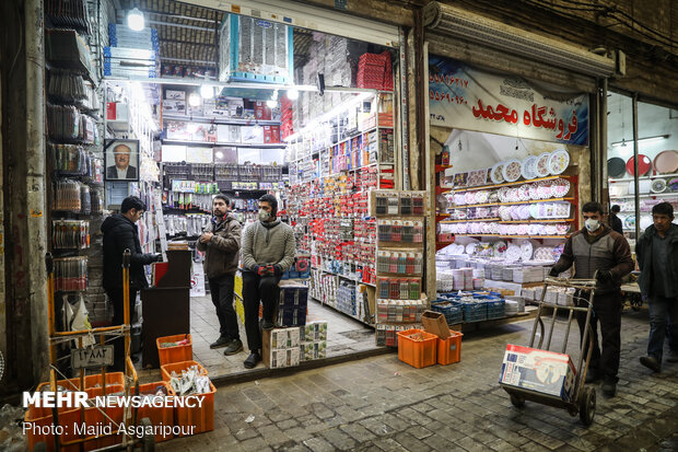
[[[588,301],[588,293],[584,295]],[[619,379],[619,352],[621,350],[621,293],[601,293],[594,297],[593,312],[591,313],[591,328],[594,338],[594,348],[588,363],[588,371],[598,372],[603,376]],[[578,300],[577,305],[586,306],[586,302]],[[584,324],[586,313],[578,312],[576,321],[580,325],[580,338],[584,339]],[[598,324],[603,343],[598,346]],[[588,352],[588,344],[584,354]],[[584,355],[586,357],[586,355]]]

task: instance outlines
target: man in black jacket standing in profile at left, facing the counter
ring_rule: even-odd
[[[113,324],[121,325],[125,322],[124,292],[122,292],[122,253],[131,253],[129,264],[129,304],[130,313],[137,300],[137,291],[149,287],[143,266],[162,259],[160,254],[143,254],[139,242],[139,221],[145,206],[136,196],[122,200],[120,213],[113,215],[104,220],[104,289],[113,304]],[[121,339],[114,341],[115,369],[125,369],[125,343]]]

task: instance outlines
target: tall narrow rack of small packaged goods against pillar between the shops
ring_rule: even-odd
[[[398,345],[398,332],[418,328],[426,295],[421,291],[424,192],[371,192],[376,217],[376,344]]]

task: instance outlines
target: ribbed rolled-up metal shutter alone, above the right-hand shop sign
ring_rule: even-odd
[[[493,21],[460,8],[432,1],[423,9],[424,26],[442,35],[482,44],[506,54],[593,77],[615,74],[611,58],[536,33]]]

